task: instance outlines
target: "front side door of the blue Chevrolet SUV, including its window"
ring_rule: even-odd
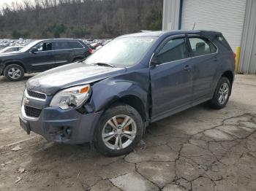
[[[192,67],[186,41],[184,35],[171,36],[160,45],[151,59],[152,121],[191,104]]]

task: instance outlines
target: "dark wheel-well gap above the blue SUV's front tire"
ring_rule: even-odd
[[[108,106],[105,107],[105,109],[108,109],[110,106],[113,106],[119,103],[132,106],[134,109],[136,109],[139,112],[143,121],[146,121],[146,109],[145,109],[145,106],[143,105],[143,102],[140,100],[140,98],[138,98],[135,95],[126,95],[122,98],[119,98],[111,102]]]

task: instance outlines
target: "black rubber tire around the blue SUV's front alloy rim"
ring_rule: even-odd
[[[132,125],[134,125],[134,124],[136,125],[137,132],[135,134],[135,138],[132,140],[132,142],[127,147],[125,147],[123,149],[120,149],[120,148],[119,149],[110,149],[105,144],[105,141],[103,141],[102,131],[105,130],[105,128],[111,128],[110,125],[106,125],[106,124],[112,117],[121,116],[121,115],[131,117],[133,122],[135,122],[135,123],[132,123]],[[129,128],[129,126],[127,126],[126,128]],[[114,130],[114,128],[112,128],[112,129]],[[123,136],[123,135],[121,135],[121,136]],[[110,107],[110,109],[108,109],[104,114],[102,114],[102,117],[100,117],[98,125],[97,125],[97,129],[95,130],[95,133],[94,133],[94,147],[96,147],[96,149],[100,153],[102,153],[102,155],[105,155],[108,157],[125,155],[125,154],[128,154],[129,152],[131,152],[135,148],[135,146],[138,144],[138,142],[140,141],[142,136],[143,136],[143,120],[140,117],[140,114],[138,113],[138,111],[136,109],[134,109],[132,106],[118,104],[116,106]],[[117,138],[113,137],[112,139],[110,139],[110,141],[116,142]],[[124,139],[124,143],[125,143],[125,139],[127,139],[127,138],[124,136],[124,137],[121,137],[121,140],[122,139]],[[129,139],[127,139],[127,140],[129,140]],[[121,143],[122,143],[122,141],[121,141]],[[119,144],[119,142],[118,142],[118,144]]]

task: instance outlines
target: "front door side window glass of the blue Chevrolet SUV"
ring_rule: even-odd
[[[157,61],[167,63],[187,58],[186,44],[184,39],[171,39],[157,53]]]

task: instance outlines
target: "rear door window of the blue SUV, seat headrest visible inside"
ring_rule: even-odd
[[[192,56],[207,55],[217,52],[217,48],[207,39],[189,38],[192,49]]]

